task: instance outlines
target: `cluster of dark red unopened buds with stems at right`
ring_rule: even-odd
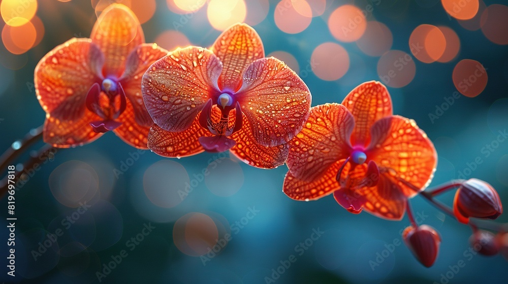
[[[436,195],[453,188],[457,188],[453,209],[434,199]],[[508,232],[500,226],[489,227],[491,230],[495,228],[496,233],[482,230],[479,229],[479,225],[470,220],[470,218],[496,219],[502,214],[503,208],[499,194],[490,184],[478,179],[460,180],[434,190],[423,191],[421,194],[439,209],[454,216],[460,223],[471,227],[473,233],[469,242],[473,250],[485,256],[501,253],[508,260]],[[411,226],[402,233],[404,243],[418,261],[430,267],[437,258],[441,237],[434,228],[428,225],[418,226],[411,214],[408,214],[408,217]]]

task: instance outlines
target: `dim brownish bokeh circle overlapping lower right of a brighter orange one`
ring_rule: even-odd
[[[393,35],[382,22],[369,21],[362,37],[356,41],[358,48],[370,56],[381,56],[392,48]]]

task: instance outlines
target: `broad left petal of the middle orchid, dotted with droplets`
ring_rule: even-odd
[[[218,92],[215,82],[221,68],[211,51],[194,46],[177,49],[153,63],[141,89],[155,124],[167,131],[187,129],[212,92]]]

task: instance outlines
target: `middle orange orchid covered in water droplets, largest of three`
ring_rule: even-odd
[[[148,147],[166,157],[231,152],[274,168],[310,113],[310,91],[284,62],[265,58],[246,24],[224,31],[210,49],[190,46],[151,65],[143,99],[155,125]]]

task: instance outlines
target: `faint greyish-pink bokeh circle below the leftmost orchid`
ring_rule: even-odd
[[[97,172],[77,160],[62,163],[49,175],[49,188],[55,199],[67,207],[79,207],[99,192]]]

